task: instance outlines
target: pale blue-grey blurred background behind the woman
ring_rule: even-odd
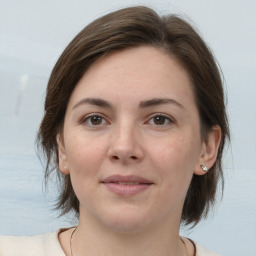
[[[232,141],[224,198],[214,216],[182,234],[225,256],[256,255],[256,2],[254,0],[0,0],[0,235],[74,225],[52,211],[35,137],[51,69],[89,22],[131,5],[189,17],[225,77]]]

